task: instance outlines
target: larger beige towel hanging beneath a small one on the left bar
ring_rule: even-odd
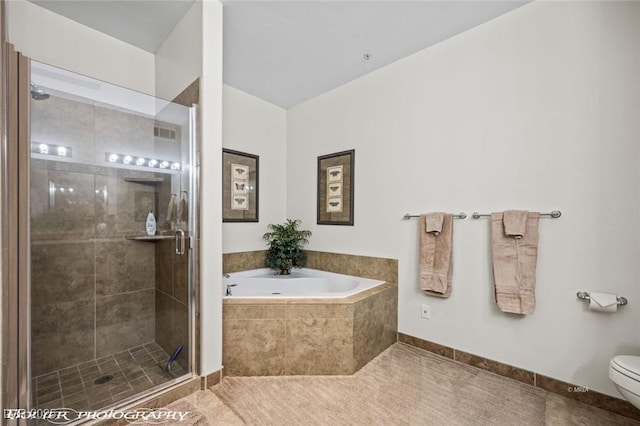
[[[427,216],[420,216],[420,289],[431,296],[449,297],[453,272],[453,215],[443,214],[439,235],[427,232]]]

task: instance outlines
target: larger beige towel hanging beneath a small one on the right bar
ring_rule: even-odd
[[[520,239],[505,234],[503,214],[491,213],[493,277],[498,308],[502,312],[532,314],[536,306],[536,261],[539,213],[527,215]]]

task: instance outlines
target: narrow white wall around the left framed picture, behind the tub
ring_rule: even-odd
[[[224,253],[264,250],[267,225],[286,218],[287,112],[225,85],[223,115],[223,146],[260,156],[260,221],[223,224],[222,249]]]

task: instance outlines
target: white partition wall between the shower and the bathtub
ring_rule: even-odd
[[[199,0],[156,55],[156,94],[173,99],[200,77],[200,351],[202,375],[222,367],[222,4]]]

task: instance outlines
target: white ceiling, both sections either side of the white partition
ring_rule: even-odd
[[[152,53],[193,3],[30,1]],[[528,1],[223,0],[224,82],[290,108]]]

